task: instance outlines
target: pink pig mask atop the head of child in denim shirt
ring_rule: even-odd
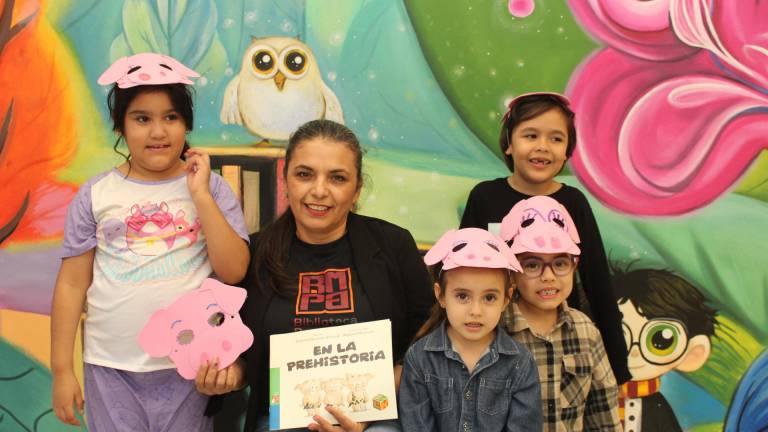
[[[443,263],[443,270],[456,267],[505,268],[520,271],[520,263],[497,236],[480,228],[450,230],[424,256],[427,265]]]

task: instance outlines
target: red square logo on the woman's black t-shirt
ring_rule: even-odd
[[[354,311],[352,272],[349,268],[299,273],[296,315],[338,314]]]

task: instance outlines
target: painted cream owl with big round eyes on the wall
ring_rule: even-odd
[[[312,50],[290,37],[251,39],[240,72],[225,90],[220,118],[278,141],[310,120],[344,123],[339,99],[323,82]]]

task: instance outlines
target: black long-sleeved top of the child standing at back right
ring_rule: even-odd
[[[579,288],[568,298],[568,305],[590,315],[603,335],[603,342],[611,361],[616,381],[619,384],[629,380],[627,369],[627,348],[621,328],[621,315],[616,296],[611,286],[608,260],[605,256],[603,239],[597,227],[595,215],[587,198],[580,190],[563,184],[549,195],[562,204],[573,218],[579,232],[579,281],[588,305],[578,298]],[[506,177],[479,183],[469,193],[461,228],[475,227],[489,229],[488,224],[500,223],[504,216],[519,201],[531,198],[513,189]]]

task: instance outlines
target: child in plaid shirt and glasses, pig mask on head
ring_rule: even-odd
[[[518,202],[501,224],[522,266],[507,331],[533,354],[541,381],[544,431],[621,431],[618,389],[600,332],[568,308],[579,234],[565,207],[546,196]]]

